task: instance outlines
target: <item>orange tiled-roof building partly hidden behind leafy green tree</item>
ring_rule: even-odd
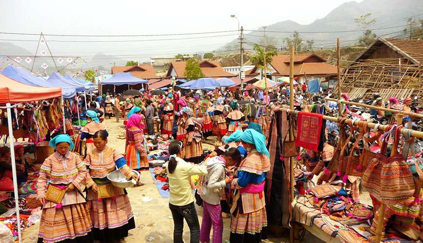
[[[187,62],[171,62],[169,70],[167,71],[166,77],[171,78],[175,76],[176,78],[184,79],[185,77],[185,66]],[[200,62],[200,68],[204,73],[206,78],[230,78],[236,77],[236,74],[229,73],[224,71],[220,64],[216,61],[202,61]]]

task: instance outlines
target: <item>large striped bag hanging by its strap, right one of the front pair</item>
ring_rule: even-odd
[[[398,143],[402,126],[394,131],[393,156],[383,162],[380,176],[380,199],[387,205],[398,204],[413,196],[416,189],[413,175],[402,155],[398,154]]]

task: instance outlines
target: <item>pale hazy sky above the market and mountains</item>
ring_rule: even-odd
[[[0,32],[64,35],[159,35],[237,30],[238,17],[244,29],[293,20],[309,24],[350,0],[0,0]],[[360,2],[361,0],[356,0]],[[257,3],[263,3],[259,6]],[[299,5],[300,3],[300,5]],[[69,37],[49,40],[148,40],[228,35],[200,39],[143,42],[49,42],[53,55],[148,56],[213,51],[236,38],[237,33],[182,36]],[[4,35],[0,39],[38,40],[38,36]],[[1,41],[1,40],[0,40]],[[9,41],[35,52],[37,42]],[[19,53],[0,53],[19,54]],[[123,58],[129,58],[128,56]]]

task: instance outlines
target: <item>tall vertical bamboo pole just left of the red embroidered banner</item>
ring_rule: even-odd
[[[295,53],[295,47],[292,45],[290,47],[291,52],[289,56],[289,108],[291,110],[294,109],[294,53]],[[294,140],[294,127],[291,126],[291,129],[289,129],[289,140]],[[289,158],[289,186],[291,194],[289,195],[291,197],[291,202],[294,201],[294,157]],[[291,203],[292,205],[292,203]],[[291,207],[289,207],[291,208]],[[289,241],[291,243],[294,243],[294,233],[295,233],[295,226],[294,226],[294,220],[291,219],[291,227],[289,229]]]

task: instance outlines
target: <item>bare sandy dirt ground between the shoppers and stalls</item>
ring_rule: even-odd
[[[108,146],[124,152],[125,140],[118,136],[124,131],[122,121],[116,122],[116,119],[106,119],[106,128],[109,132]],[[205,148],[212,148],[212,145],[204,143]],[[148,171],[141,172],[141,187],[128,188],[128,195],[131,201],[132,210],[135,214],[136,228],[129,231],[129,235],[124,239],[126,243],[147,242],[150,237],[154,238],[153,243],[171,243],[173,242],[173,220],[172,214],[168,208],[169,199],[162,198],[154,184],[154,181]],[[152,198],[150,202],[142,202],[141,197],[148,196]],[[196,206],[198,218],[201,224],[202,208]],[[23,231],[24,243],[35,243],[37,241],[39,224],[35,224]],[[223,242],[229,242],[230,218],[224,219]],[[190,242],[190,232],[185,223],[183,239]],[[269,236],[264,242],[289,242],[289,230],[286,235],[280,237]],[[319,243],[316,237],[307,233],[302,242]]]

